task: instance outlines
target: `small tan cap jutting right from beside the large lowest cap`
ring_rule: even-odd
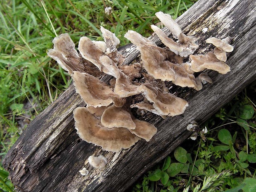
[[[156,134],[157,129],[154,125],[146,121],[140,121],[139,119],[134,119],[133,121],[136,124],[136,128],[129,130],[138,137],[149,141]]]

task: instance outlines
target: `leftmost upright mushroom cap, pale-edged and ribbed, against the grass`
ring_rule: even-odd
[[[73,71],[84,71],[84,67],[79,65],[80,57],[75,49],[68,33],[61,34],[52,40],[53,49],[47,52],[47,55],[58,62],[58,64],[71,74]]]

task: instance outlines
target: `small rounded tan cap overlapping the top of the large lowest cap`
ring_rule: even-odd
[[[108,107],[101,116],[101,123],[104,127],[125,127],[135,129],[135,123],[130,113],[121,107],[115,107],[114,105]]]

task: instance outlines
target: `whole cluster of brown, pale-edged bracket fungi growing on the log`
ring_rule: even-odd
[[[101,27],[104,41],[82,37],[78,51],[67,33],[56,37],[54,48],[48,55],[71,75],[76,92],[86,103],[73,111],[75,128],[86,142],[101,146],[103,150],[118,152],[128,149],[138,140],[149,141],[156,134],[156,127],[135,118],[132,108],[146,113],[176,116],[183,114],[188,103],[168,91],[165,82],[181,87],[202,89],[202,83],[212,83],[207,73],[195,77],[194,72],[212,69],[225,74],[230,67],[225,64],[226,52],[231,52],[229,38],[209,38],[216,48],[204,55],[192,55],[198,48],[196,38],[182,33],[180,26],[170,15],[157,12],[156,17],[173,34],[168,38],[157,26],[152,30],[166,47],[158,47],[153,41],[135,31],[125,37],[136,45],[141,53],[141,63],[124,65],[124,57],[117,50],[120,41],[114,33]],[[183,62],[187,59],[188,62]],[[111,76],[107,83],[104,74]],[[144,99],[136,101],[136,95]]]

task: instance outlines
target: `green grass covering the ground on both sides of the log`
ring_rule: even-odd
[[[126,45],[129,42],[123,38],[123,35],[128,29],[135,30],[146,37],[150,36],[152,34],[150,24],[159,22],[154,16],[155,12],[166,12],[175,19],[194,2],[194,0],[12,0],[1,2],[0,159],[5,156],[26,128],[26,125],[20,126],[18,122],[29,123],[54,102],[71,83],[67,73],[59,69],[57,63],[47,56],[47,50],[52,48],[52,39],[55,36],[69,33],[75,43],[78,43],[81,36],[88,36],[92,40],[102,40],[99,28],[104,26],[116,33],[121,45]],[[112,8],[110,15],[105,14],[105,7]],[[255,85],[251,87],[244,90],[243,94],[238,95],[216,116],[206,122],[204,126],[211,130],[205,135],[206,142],[198,138],[197,141],[190,141],[193,142],[193,148],[182,146],[186,154],[191,156],[191,159],[183,163],[189,164],[186,165],[189,167],[186,173],[179,172],[177,175],[168,173],[172,163],[181,163],[175,158],[175,154],[170,154],[168,159],[171,159],[172,163],[168,165],[162,162],[157,165],[140,180],[140,183],[135,184],[133,190],[177,191],[179,188],[179,191],[182,191],[185,187],[193,188],[198,185],[204,177],[214,180],[213,185],[229,182],[228,189],[228,187],[239,186],[244,178],[255,178],[255,166],[250,164],[248,156],[244,157],[246,155],[241,153],[245,159],[241,162],[238,162],[240,161],[239,155],[234,156],[234,153],[240,154],[240,152],[255,154],[256,150],[255,114],[250,119],[243,119],[244,116],[239,116],[241,106],[253,106],[255,111],[255,97],[253,96]],[[244,110],[248,111],[249,108],[245,107]],[[236,121],[239,121],[239,125]],[[234,141],[232,140],[232,146],[228,145],[229,157],[225,157],[222,151],[214,150],[214,147],[224,145],[218,137],[220,129],[228,130],[232,137],[236,135]],[[243,144],[239,149],[235,148],[237,142]],[[224,176],[218,175],[225,168],[222,168],[223,165],[212,164],[212,156],[217,159],[235,158],[232,163],[225,164],[232,173],[232,180],[228,181],[225,178],[225,174],[229,173],[225,173]],[[194,163],[198,160],[206,162],[204,167]],[[223,163],[227,162],[223,160]],[[242,163],[244,167],[246,164],[249,166],[239,168],[239,163]],[[162,164],[165,164],[166,169],[163,170]],[[159,180],[155,178],[153,181],[150,177],[156,170],[160,170],[162,178],[160,177]],[[217,174],[217,179],[210,177],[212,173]],[[7,175],[8,172],[2,168],[0,163],[0,188],[10,192],[14,190],[14,187],[7,179]],[[167,186],[166,182],[172,182],[172,187],[169,184]],[[182,182],[185,182],[185,185],[181,185]]]

